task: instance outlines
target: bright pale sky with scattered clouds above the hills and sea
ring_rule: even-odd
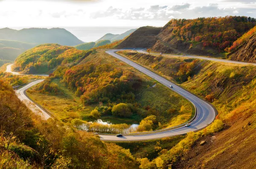
[[[0,0],[0,28],[163,26],[172,18],[256,17],[255,0]]]

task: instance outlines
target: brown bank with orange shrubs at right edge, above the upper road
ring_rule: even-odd
[[[256,63],[256,34],[252,35],[241,47],[229,55],[231,60]]]

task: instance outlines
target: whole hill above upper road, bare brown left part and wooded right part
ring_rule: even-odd
[[[255,24],[254,18],[232,16],[172,19],[159,32],[149,36],[147,27],[139,28],[118,48],[143,47],[163,53],[217,56],[227,52],[233,42]]]

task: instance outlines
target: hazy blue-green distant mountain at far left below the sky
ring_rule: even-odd
[[[19,31],[3,28],[0,29],[0,39],[17,40],[35,44],[58,43],[60,45],[68,46],[84,43],[63,28],[26,28]]]

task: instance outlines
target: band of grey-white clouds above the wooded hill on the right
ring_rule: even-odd
[[[197,18],[197,17],[224,17],[239,14],[241,16],[256,17],[256,8],[220,8],[217,3],[208,6],[195,6],[191,8],[189,3],[175,6],[154,5],[148,8],[121,8],[109,7],[107,10],[96,11],[90,17],[115,17],[123,20],[170,20],[172,18]]]

